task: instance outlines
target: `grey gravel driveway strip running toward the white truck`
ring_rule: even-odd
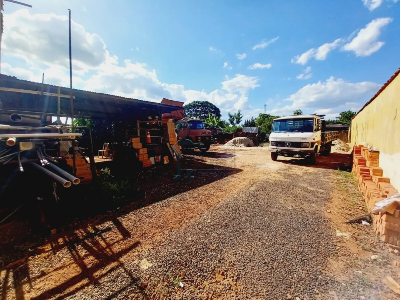
[[[68,299],[315,298],[336,285],[322,270],[335,252],[329,174],[247,186]]]

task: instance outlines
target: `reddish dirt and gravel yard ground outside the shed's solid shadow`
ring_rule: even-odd
[[[187,160],[194,180],[168,175],[160,200],[149,190],[31,245],[1,234],[1,299],[398,299],[384,278],[400,282],[399,256],[343,223],[366,213],[348,155],[308,166],[214,145]]]

